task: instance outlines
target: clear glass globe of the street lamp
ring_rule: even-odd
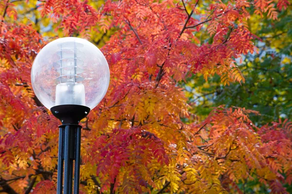
[[[110,70],[103,53],[91,42],[65,37],[40,50],[31,80],[38,100],[48,109],[58,105],[92,109],[108,90]]]

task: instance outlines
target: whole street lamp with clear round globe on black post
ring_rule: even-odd
[[[105,96],[110,70],[103,53],[89,41],[76,37],[47,44],[33,63],[31,80],[38,100],[51,110],[59,126],[57,194],[79,193],[81,128],[78,123]]]

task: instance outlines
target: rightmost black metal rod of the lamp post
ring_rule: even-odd
[[[74,194],[79,194],[80,147],[81,147],[80,145],[81,145],[81,127],[77,126],[75,136]]]

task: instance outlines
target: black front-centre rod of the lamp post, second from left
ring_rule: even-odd
[[[66,125],[65,127],[65,168],[64,168],[64,194],[69,194],[69,186],[70,186],[70,125]]]

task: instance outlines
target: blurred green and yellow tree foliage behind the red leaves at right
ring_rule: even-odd
[[[206,117],[213,106],[241,106],[254,109],[261,114],[252,114],[257,126],[280,119],[292,118],[291,111],[291,10],[281,12],[277,20],[252,16],[249,29],[259,39],[255,40],[258,53],[247,54],[237,65],[243,73],[245,83],[230,83],[220,86],[218,75],[202,75],[188,78],[185,88],[194,113]],[[184,84],[184,83],[182,83]]]

